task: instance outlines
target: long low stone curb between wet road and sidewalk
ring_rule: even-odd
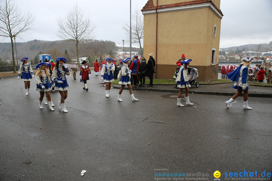
[[[155,84],[154,84],[155,85]],[[120,89],[119,86],[111,86],[114,89]],[[125,87],[124,90],[129,90],[128,87]],[[172,90],[172,89],[155,89],[155,88],[132,88],[132,90],[140,90],[140,91],[154,91],[154,92],[172,92],[172,93],[179,93],[180,90]],[[185,90],[183,90],[185,93]],[[218,95],[218,96],[233,96],[235,93],[233,92],[211,92],[211,91],[189,91],[191,94],[207,94],[207,95]],[[244,94],[242,93],[241,96]],[[270,97],[272,98],[272,94],[252,94],[249,93],[248,97]]]

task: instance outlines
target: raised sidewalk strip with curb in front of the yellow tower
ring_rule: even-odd
[[[209,95],[223,95],[223,96],[233,96],[237,90],[232,88],[233,82],[226,82],[224,84],[199,84],[197,88],[192,85],[189,89],[191,94],[209,94]],[[121,85],[112,85],[113,88],[120,89]],[[153,84],[153,87],[136,87],[132,90],[142,90],[142,91],[158,91],[158,92],[172,92],[179,93],[179,89],[174,88],[174,84]],[[128,90],[128,87],[125,87]],[[185,93],[185,90],[183,91]],[[243,93],[242,93],[243,96]],[[249,97],[271,97],[272,98],[272,87],[261,87],[261,86],[251,86],[249,84]]]

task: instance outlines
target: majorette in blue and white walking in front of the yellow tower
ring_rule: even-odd
[[[183,89],[185,88],[185,100],[186,100],[186,105],[191,106],[193,105],[193,103],[190,102],[189,100],[189,87],[191,87],[190,83],[189,83],[189,79],[188,79],[188,67],[190,65],[190,62],[192,61],[192,59],[186,59],[184,61],[182,61],[181,63],[183,63],[180,71],[178,72],[177,78],[176,78],[176,82],[178,84],[177,87],[180,88],[180,92],[178,93],[178,103],[177,106],[184,106],[183,104],[180,103],[181,100],[181,94],[183,93]]]

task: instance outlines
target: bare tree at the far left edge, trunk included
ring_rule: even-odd
[[[4,39],[10,37],[14,73],[16,73],[16,69],[12,38],[14,36],[19,37],[19,33],[32,30],[31,25],[33,25],[34,20],[35,15],[29,9],[22,13],[13,0],[0,0],[0,36]]]

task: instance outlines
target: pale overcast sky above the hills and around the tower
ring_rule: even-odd
[[[27,6],[36,14],[33,28],[22,33],[17,42],[29,40],[60,40],[55,35],[56,17],[64,16],[75,4],[74,0],[15,0],[23,11]],[[97,25],[98,40],[111,40],[122,44],[126,36],[123,22],[129,23],[129,0],[77,0],[78,4]],[[142,8],[147,0],[132,0],[132,11]],[[220,48],[272,41],[271,0],[221,0]],[[269,9],[270,8],[270,9]],[[5,39],[2,42],[10,42]],[[125,43],[129,45],[129,43]]]

